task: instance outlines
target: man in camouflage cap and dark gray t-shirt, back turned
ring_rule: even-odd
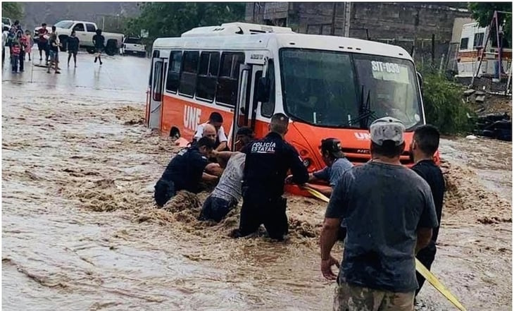
[[[338,283],[334,310],[414,310],[414,256],[438,224],[430,186],[400,163],[404,131],[398,119],[374,121],[372,160],[346,171],[330,197],[320,248],[323,276]],[[336,276],[330,251],[343,218],[347,236]]]

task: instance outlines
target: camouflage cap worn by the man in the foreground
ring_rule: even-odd
[[[403,132],[405,132],[405,126],[397,118],[391,118],[386,116],[379,118],[370,126],[371,141],[375,144],[382,146],[384,141],[392,140],[394,145],[399,146],[403,142]]]

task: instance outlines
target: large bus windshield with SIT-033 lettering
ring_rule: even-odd
[[[412,129],[422,121],[413,63],[392,57],[281,49],[284,109],[315,126],[368,128],[392,116]],[[363,116],[367,108],[367,116]],[[362,119],[366,121],[363,123]]]

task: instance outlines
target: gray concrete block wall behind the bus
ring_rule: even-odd
[[[283,18],[280,12],[273,16],[268,10],[264,18],[265,6],[253,10],[254,3],[246,4],[246,20],[251,22],[254,13],[256,23],[273,23],[274,18]],[[351,10],[347,11],[347,6]],[[446,66],[449,63],[448,51],[454,35],[456,19],[470,18],[465,3],[441,2],[338,2],[335,16],[335,35],[344,35],[345,18],[349,18],[349,37],[370,39],[396,44],[409,53],[413,51],[415,40],[415,60],[419,63],[432,63],[432,34],[435,35],[435,61],[439,67],[441,58]],[[271,12],[271,13],[270,13]],[[300,33],[330,35],[332,30],[333,2],[290,2],[287,26]],[[348,14],[349,13],[349,14]],[[452,56],[452,55],[451,55]]]

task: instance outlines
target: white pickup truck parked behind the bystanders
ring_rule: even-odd
[[[95,23],[84,22],[81,20],[61,20],[56,23],[56,32],[61,41],[61,51],[66,51],[66,41],[68,37],[70,37],[71,32],[75,30],[75,34],[77,38],[80,40],[80,47],[85,47],[89,53],[93,53],[94,44],[93,44],[93,36],[96,35],[96,27]],[[37,27],[34,30],[34,37],[37,38],[37,32],[41,27]],[[46,26],[46,30],[51,32],[51,27]],[[113,56],[118,54],[120,51],[120,47],[123,44],[124,35],[120,33],[114,32],[104,32],[101,33],[106,41],[105,41],[105,52],[107,55]]]

